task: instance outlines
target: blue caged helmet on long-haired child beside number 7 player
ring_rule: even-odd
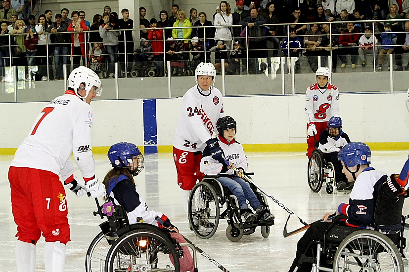
[[[136,161],[134,157],[136,157]],[[113,167],[129,169],[134,177],[138,175],[145,166],[143,155],[137,146],[127,142],[111,146],[108,150],[108,158]],[[136,163],[136,167],[131,169],[130,163],[134,163],[134,166]]]

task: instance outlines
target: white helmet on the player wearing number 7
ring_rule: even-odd
[[[87,91],[84,97],[78,94],[78,88],[80,87],[81,83],[85,84],[85,90]],[[68,77],[68,87],[73,88],[75,94],[82,99],[88,96],[88,93],[91,91],[93,86],[97,88],[95,91],[96,96],[100,96],[102,93],[101,80],[99,80],[98,75],[96,75],[94,71],[87,67],[80,66],[75,68]]]

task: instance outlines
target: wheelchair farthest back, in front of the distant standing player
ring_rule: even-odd
[[[318,149],[318,143],[315,145],[316,150],[313,151],[310,159],[308,160],[307,177],[308,185],[310,189],[318,193],[322,188],[322,184],[325,182],[325,191],[328,194],[332,194],[335,190],[338,192],[350,192],[352,190],[338,190],[335,180],[335,168],[332,162],[325,161],[324,154]]]

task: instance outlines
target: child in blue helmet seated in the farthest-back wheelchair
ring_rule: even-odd
[[[351,143],[348,135],[342,131],[341,117],[331,117],[328,127],[319,135],[318,149],[323,153],[326,162],[332,162],[335,170],[336,187],[338,191],[351,190],[354,183],[348,186],[347,177],[342,173],[341,162],[338,160],[338,152],[348,143]]]

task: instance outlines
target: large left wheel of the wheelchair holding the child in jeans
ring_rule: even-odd
[[[197,236],[208,239],[219,225],[219,199],[215,189],[207,182],[196,184],[189,195],[189,223]]]

